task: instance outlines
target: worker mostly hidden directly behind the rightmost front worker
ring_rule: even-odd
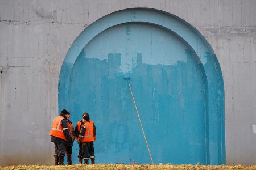
[[[82,117],[84,117],[85,114],[89,116],[89,114],[87,112],[84,112],[82,114]],[[92,120],[90,120],[89,122],[93,125],[93,137],[94,137],[94,141],[95,141],[95,139],[96,139],[96,132],[97,132],[96,131],[96,126],[95,126],[95,124],[94,124],[94,122]],[[80,142],[78,139],[79,139],[79,134],[80,134],[80,129],[81,129],[82,124],[84,124],[84,122],[82,120],[78,121],[77,124],[76,124],[76,128],[75,128],[75,134],[76,134],[77,143],[79,143],[79,155],[78,155],[78,158],[79,158],[79,163],[80,164],[82,164],[82,142]],[[90,159],[91,159],[91,163],[95,164],[93,141],[90,143],[89,156],[90,156]]]

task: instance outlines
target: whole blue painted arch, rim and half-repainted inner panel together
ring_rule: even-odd
[[[74,124],[90,114],[96,163],[151,163],[128,81],[155,164],[225,164],[221,69],[195,28],[133,8],[98,19],[73,42],[60,71],[59,110]]]

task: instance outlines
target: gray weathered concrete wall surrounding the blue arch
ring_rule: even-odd
[[[255,0],[0,0],[0,165],[53,164],[48,134],[68,49],[89,24],[133,7],[177,15],[208,40],[224,76],[226,163],[255,164]]]

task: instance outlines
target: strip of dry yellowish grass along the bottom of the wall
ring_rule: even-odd
[[[119,169],[119,170],[139,170],[139,169],[256,169],[256,165],[246,166],[246,165],[115,165],[115,164],[96,164],[96,165],[70,165],[70,166],[47,166],[47,165],[18,165],[18,166],[6,166],[0,167],[0,169],[38,169],[38,170],[46,170],[46,169]]]

